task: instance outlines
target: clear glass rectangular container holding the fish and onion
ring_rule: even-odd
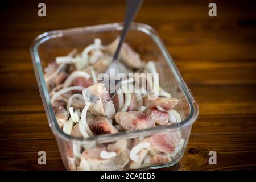
[[[46,82],[44,68],[57,56],[67,55],[74,48],[81,52],[86,46],[92,44],[95,38],[100,38],[102,44],[109,44],[115,40],[122,31],[122,23],[102,24],[67,30],[49,31],[39,35],[31,45],[30,52],[40,95],[48,118],[49,126],[55,135],[64,166],[69,170],[129,170],[129,169],[155,169],[176,164],[182,158],[187,147],[191,127],[199,114],[199,107],[192,93],[185,84],[174,61],[168,54],[166,47],[154,28],[142,24],[131,24],[126,42],[139,53],[142,60],[155,61],[159,72],[159,85],[171,96],[179,99],[175,110],[179,112],[182,121],[174,125],[157,126],[150,129],[123,131],[116,134],[104,134],[91,138],[78,138],[65,134],[57,124]],[[147,137],[169,137],[167,142],[174,142],[178,138],[179,145],[170,160],[152,160],[153,153],[148,153],[143,161],[134,163],[130,160],[130,148],[123,150],[112,159],[81,158],[81,152],[92,152],[97,147],[108,144],[126,143],[129,146],[134,141]],[[138,153],[139,156],[144,155]]]

